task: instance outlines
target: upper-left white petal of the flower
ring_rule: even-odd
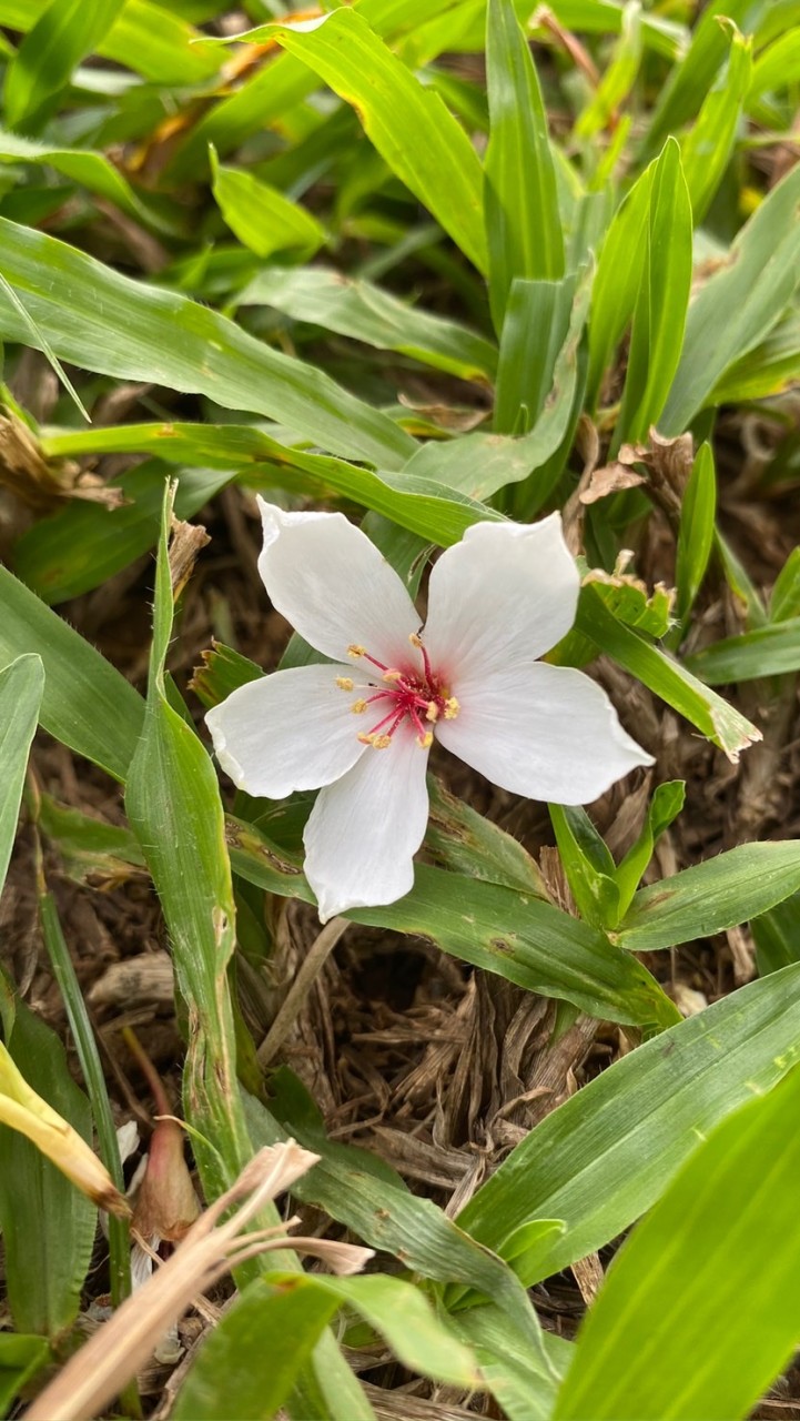
[[[408,658],[419,612],[398,574],[342,513],[284,513],[259,499],[259,573],[270,601],[317,651],[365,647],[385,666]]]

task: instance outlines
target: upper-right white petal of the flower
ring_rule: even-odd
[[[509,658],[536,661],[575,620],[580,577],[561,514],[475,523],[431,573],[425,647],[455,695]]]

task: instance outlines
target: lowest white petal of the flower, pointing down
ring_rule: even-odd
[[[413,887],[412,855],[428,823],[428,752],[401,726],[320,791],[303,836],[320,919],[395,902]]]

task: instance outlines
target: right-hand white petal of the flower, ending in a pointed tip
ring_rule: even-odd
[[[652,764],[622,729],[605,692],[570,666],[507,666],[473,688],[442,745],[513,794],[591,804],[637,764]]]

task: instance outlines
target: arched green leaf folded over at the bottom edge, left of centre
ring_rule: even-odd
[[[246,1289],[209,1336],[182,1387],[176,1421],[274,1415],[313,1341],[342,1306],[375,1327],[412,1371],[480,1387],[470,1351],[411,1283],[384,1275],[270,1273]]]

